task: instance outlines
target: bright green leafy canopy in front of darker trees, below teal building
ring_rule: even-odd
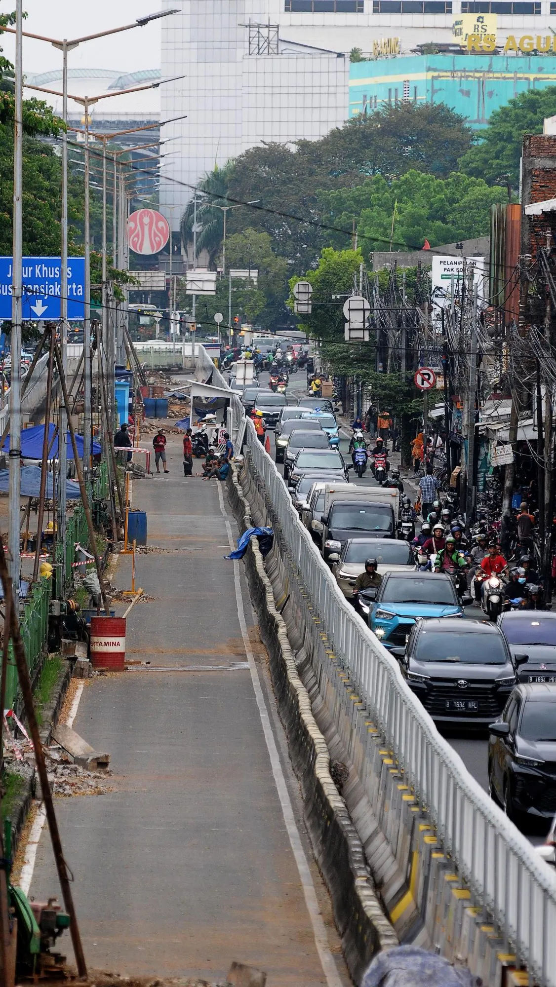
[[[410,171],[390,184],[375,175],[353,189],[321,191],[318,197],[326,223],[342,229],[356,221],[359,244],[368,255],[388,250],[390,239],[394,249],[421,250],[425,239],[436,247],[482,236],[491,205],[503,202],[506,194],[458,173],[438,179]],[[340,248],[343,235],[332,233],[331,241]]]

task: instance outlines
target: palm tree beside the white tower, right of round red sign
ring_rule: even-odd
[[[202,229],[197,235],[198,254],[205,250],[208,254],[209,265],[213,266],[220,248],[222,246],[224,213],[222,209],[210,207],[215,205],[229,205],[226,199],[226,192],[230,183],[233,163],[226,162],[223,168],[214,168],[199,183],[197,194],[197,221]],[[194,200],[188,202],[182,216],[181,232],[182,240],[185,244],[193,241],[194,223]]]

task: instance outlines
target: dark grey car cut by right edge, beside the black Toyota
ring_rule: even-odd
[[[511,610],[498,619],[513,654],[526,654],[519,682],[556,682],[556,613]]]

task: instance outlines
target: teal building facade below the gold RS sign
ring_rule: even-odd
[[[529,89],[556,86],[556,54],[398,55],[350,66],[350,117],[384,104],[444,103],[469,125],[487,125],[494,110]]]

